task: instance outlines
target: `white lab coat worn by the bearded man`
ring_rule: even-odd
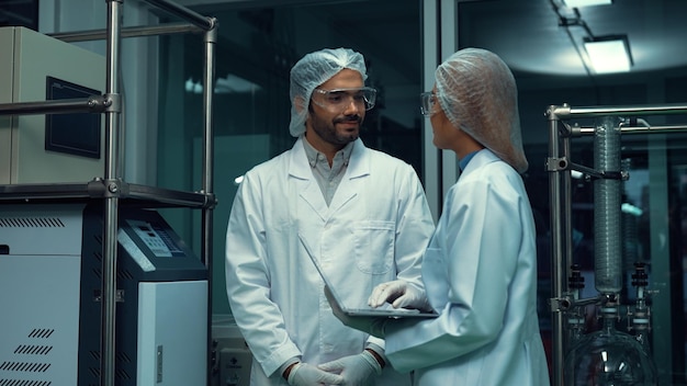
[[[421,285],[419,262],[433,231],[409,164],[358,139],[327,206],[303,140],[246,173],[229,215],[227,294],[255,357],[251,385],[285,385],[278,370],[293,356],[316,365],[359,354],[368,341],[384,347],[333,315],[299,234],[337,291],[360,306],[376,284],[397,275]],[[379,379],[378,385],[409,385],[408,374],[391,366]]]

